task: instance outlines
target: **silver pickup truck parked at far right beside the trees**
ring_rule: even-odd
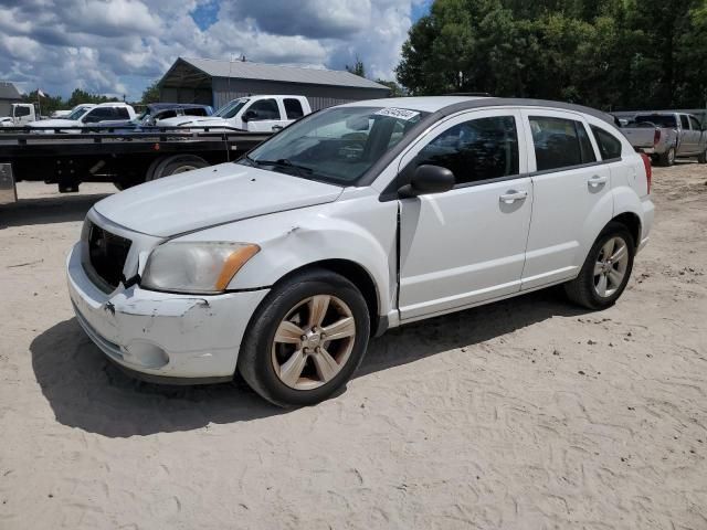
[[[636,114],[621,130],[635,149],[662,166],[673,166],[678,158],[707,163],[707,131],[692,114]]]

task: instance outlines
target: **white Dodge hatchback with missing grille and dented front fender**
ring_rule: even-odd
[[[239,162],[98,202],[68,289],[86,333],[133,374],[239,371],[273,403],[313,404],[388,328],[556,284],[611,306],[648,241],[650,187],[647,158],[592,109],[357,102]]]

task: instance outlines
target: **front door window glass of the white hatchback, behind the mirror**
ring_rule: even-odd
[[[442,166],[457,184],[518,174],[518,134],[513,116],[455,125],[418,153],[415,166]]]

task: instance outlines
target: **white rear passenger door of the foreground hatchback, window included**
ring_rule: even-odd
[[[581,115],[524,110],[531,138],[532,221],[523,289],[571,279],[613,215],[611,171]]]

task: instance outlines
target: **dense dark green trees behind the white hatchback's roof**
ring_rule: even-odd
[[[707,98],[705,0],[436,0],[397,67],[412,94],[488,92],[605,109]]]

